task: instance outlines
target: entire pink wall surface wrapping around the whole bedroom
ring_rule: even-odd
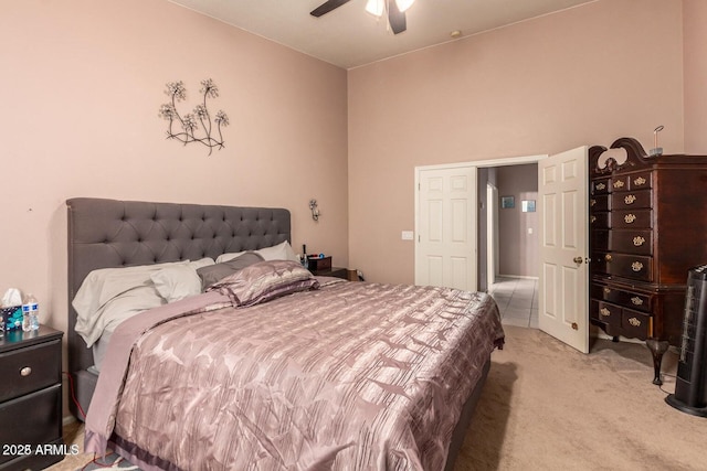
[[[647,147],[657,125],[667,152],[707,153],[705,10],[599,0],[347,73],[166,0],[6,2],[0,290],[65,329],[73,196],[288,207],[295,248],[412,282],[415,165]],[[166,82],[208,77],[231,121],[211,157],[158,118]]]

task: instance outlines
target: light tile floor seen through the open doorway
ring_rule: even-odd
[[[496,300],[504,324],[538,328],[538,280],[497,277],[488,288]]]

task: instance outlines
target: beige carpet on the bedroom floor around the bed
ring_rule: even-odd
[[[538,330],[505,329],[456,471],[707,470],[707,418],[665,404],[643,344],[597,340],[583,355]],[[675,366],[668,352],[664,371]],[[674,384],[665,377],[663,388]],[[83,441],[81,427],[65,435]],[[50,469],[74,471],[91,459]]]

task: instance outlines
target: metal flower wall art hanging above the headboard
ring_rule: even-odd
[[[165,93],[171,100],[159,108],[159,116],[169,121],[167,139],[177,139],[184,146],[200,142],[209,148],[209,156],[214,148],[223,149],[221,127],[229,126],[229,117],[221,109],[213,117],[209,113],[207,98],[219,96],[219,88],[211,78],[201,81],[199,93],[203,96],[203,103],[197,105],[191,113],[186,115],[181,115],[177,110],[177,103],[187,99],[184,84],[181,81],[169,82]],[[176,131],[177,126],[181,129]]]

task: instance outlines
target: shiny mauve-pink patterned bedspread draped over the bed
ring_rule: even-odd
[[[441,470],[504,335],[490,297],[445,288],[323,280],[226,301],[202,295],[116,330],[86,451],[109,445],[145,469]]]

